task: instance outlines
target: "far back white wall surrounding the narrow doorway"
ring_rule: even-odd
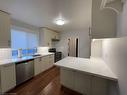
[[[88,58],[90,56],[89,30],[64,31],[60,33],[60,42],[56,44],[57,50],[62,51],[63,56],[68,56],[68,38],[79,38],[79,57]]]

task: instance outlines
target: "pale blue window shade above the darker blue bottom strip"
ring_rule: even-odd
[[[38,46],[38,34],[35,32],[20,31],[11,29],[12,49],[27,49]]]

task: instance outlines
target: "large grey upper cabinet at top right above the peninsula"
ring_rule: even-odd
[[[116,37],[117,14],[109,8],[105,8],[106,2],[104,1],[92,0],[91,36],[93,39]]]

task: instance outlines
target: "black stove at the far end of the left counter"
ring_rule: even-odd
[[[62,59],[62,52],[56,51],[56,48],[50,48],[48,51],[54,53],[54,62]]]

